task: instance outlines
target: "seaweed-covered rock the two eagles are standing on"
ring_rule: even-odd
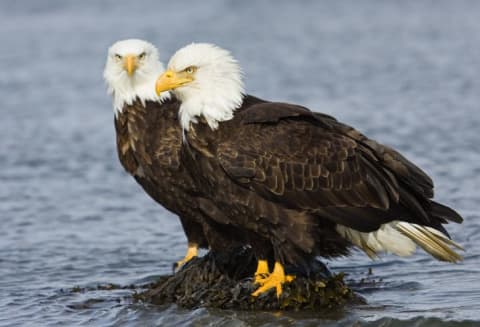
[[[284,284],[278,299],[272,289],[258,297],[252,283],[256,260],[251,251],[195,258],[179,272],[147,286],[134,298],[153,304],[176,303],[185,308],[210,307],[239,310],[325,310],[349,303],[362,303],[343,281],[343,274],[331,275],[323,264],[304,277],[298,272],[294,281]],[[288,268],[287,268],[288,273]]]

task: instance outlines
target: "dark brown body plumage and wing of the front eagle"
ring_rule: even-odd
[[[273,250],[287,262],[345,254],[337,224],[372,232],[401,220],[446,234],[442,224],[462,221],[398,152],[300,106],[247,96],[234,119],[194,124],[188,141],[204,192],[231,208],[225,223],[282,244]]]

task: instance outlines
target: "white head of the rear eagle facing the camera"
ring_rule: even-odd
[[[108,93],[113,96],[115,115],[124,105],[132,104],[138,97],[145,101],[161,101],[168,92],[157,95],[155,80],[165,71],[158,57],[158,50],[151,43],[129,39],[118,41],[108,49],[103,77]]]

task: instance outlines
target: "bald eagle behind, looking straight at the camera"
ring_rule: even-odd
[[[188,249],[176,263],[179,268],[197,256],[199,247],[208,246],[206,234],[238,245],[224,228],[217,235],[198,210],[195,183],[180,163],[179,102],[168,92],[155,93],[162,72],[157,49],[146,41],[123,40],[108,50],[104,78],[113,97],[118,157],[147,194],[180,217]]]

